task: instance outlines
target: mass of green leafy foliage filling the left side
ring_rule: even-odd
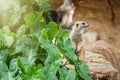
[[[8,24],[0,29],[0,80],[91,80],[87,65],[72,50],[68,32],[55,22],[47,23],[47,9],[43,10],[28,12],[16,33]],[[65,67],[62,55],[75,69]]]

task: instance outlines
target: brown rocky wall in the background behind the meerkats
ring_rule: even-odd
[[[57,9],[63,0],[50,0]],[[120,1],[74,0],[76,7],[73,21],[83,20],[90,24],[89,31],[96,31],[99,38],[120,48]]]

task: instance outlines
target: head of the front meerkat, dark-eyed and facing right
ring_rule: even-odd
[[[88,26],[89,25],[86,22],[77,21],[74,23],[72,29],[76,32],[83,34]]]

